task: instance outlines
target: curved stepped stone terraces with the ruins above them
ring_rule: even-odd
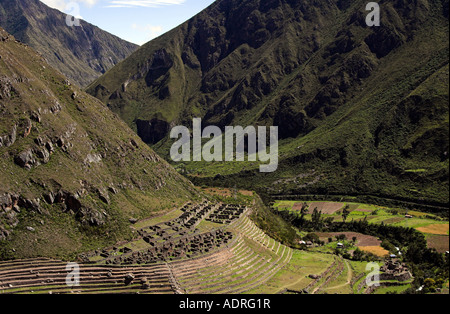
[[[80,256],[80,286],[66,285],[66,262],[0,262],[1,293],[243,293],[289,263],[292,250],[268,237],[249,210],[206,202],[188,204],[168,222],[138,230],[130,243]],[[195,229],[211,215],[228,215],[223,228]],[[232,215],[232,217],[230,217]],[[214,219],[218,218],[214,216]]]

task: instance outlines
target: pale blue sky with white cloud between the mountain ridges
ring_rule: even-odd
[[[187,21],[214,0],[41,0],[132,43],[143,45]]]

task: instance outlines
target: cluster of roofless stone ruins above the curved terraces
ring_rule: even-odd
[[[106,264],[135,265],[207,254],[227,245],[233,234],[222,229],[198,233],[195,231],[197,224],[213,211],[227,215],[226,221],[231,221],[240,217],[245,209],[234,205],[211,205],[206,201],[197,205],[187,204],[181,209],[183,214],[180,217],[138,230],[139,238],[148,244],[148,248],[135,251],[127,246],[120,249],[112,247],[83,254],[80,258],[89,262],[93,257],[101,257]]]

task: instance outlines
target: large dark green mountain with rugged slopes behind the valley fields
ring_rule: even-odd
[[[194,117],[279,127],[276,172],[177,164],[198,183],[448,208],[448,1],[377,3],[218,0],[87,91],[165,158]]]

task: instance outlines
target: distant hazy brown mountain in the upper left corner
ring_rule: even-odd
[[[88,85],[138,47],[83,20],[80,26],[67,26],[66,16],[39,0],[0,1],[0,27],[79,86]]]

